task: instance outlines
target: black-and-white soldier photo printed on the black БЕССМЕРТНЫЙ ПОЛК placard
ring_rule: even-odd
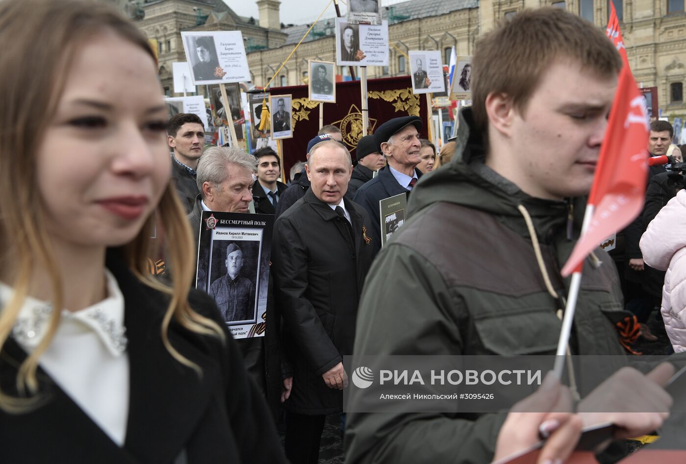
[[[215,240],[209,294],[227,323],[255,321],[259,242]]]

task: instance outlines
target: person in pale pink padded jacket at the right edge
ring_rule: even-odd
[[[686,190],[681,190],[648,224],[641,237],[648,266],[667,270],[662,318],[674,351],[686,351]]]

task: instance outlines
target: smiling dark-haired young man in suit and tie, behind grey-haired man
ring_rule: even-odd
[[[288,188],[277,180],[281,176],[281,159],[270,147],[256,150],[253,156],[257,158],[257,182],[252,185],[255,213],[274,214],[281,194]]]

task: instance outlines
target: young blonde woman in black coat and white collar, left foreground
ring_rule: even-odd
[[[169,185],[150,47],[99,3],[0,0],[0,461],[283,463]],[[171,288],[147,276],[161,220]]]

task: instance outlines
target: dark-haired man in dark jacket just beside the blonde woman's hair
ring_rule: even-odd
[[[167,124],[167,143],[174,150],[171,159],[171,182],[186,211],[191,212],[196,196],[200,194],[196,184],[198,159],[202,154],[205,129],[202,119],[191,113],[179,113]]]

